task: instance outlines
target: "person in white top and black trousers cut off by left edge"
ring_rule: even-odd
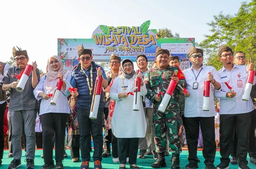
[[[7,63],[0,62],[0,82],[3,79],[4,74],[10,68]],[[2,90],[0,85],[0,166],[2,165],[3,149],[4,149],[4,136],[3,136],[3,117],[6,108],[6,93]]]

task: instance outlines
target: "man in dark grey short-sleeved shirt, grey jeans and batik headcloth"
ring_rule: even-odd
[[[13,156],[11,164],[8,166],[10,169],[15,169],[21,166],[22,145],[20,142],[22,136],[22,126],[24,122],[25,135],[27,139],[27,166],[26,168],[34,168],[35,157],[35,107],[37,100],[33,95],[33,90],[40,80],[39,69],[37,63],[32,62],[33,70],[29,75],[27,83],[22,92],[18,92],[15,88],[17,86],[17,79],[13,75],[20,74],[25,70],[29,57],[26,50],[16,50],[13,47],[13,57],[15,61],[14,67],[7,70],[2,80],[2,89],[11,92],[11,99],[9,103],[10,119],[12,124],[12,147]]]

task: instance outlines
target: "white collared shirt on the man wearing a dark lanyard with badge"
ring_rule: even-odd
[[[194,73],[193,73],[194,71]],[[187,82],[187,90],[190,93],[188,98],[185,98],[185,117],[213,117],[216,115],[214,108],[214,89],[211,85],[210,87],[210,105],[209,111],[202,111],[203,107],[203,84],[208,78],[208,72],[211,72],[213,78],[216,82],[221,83],[217,70],[212,66],[202,66],[200,69],[196,70],[191,66],[191,68],[182,71],[185,75]],[[199,73],[200,72],[200,73]],[[197,77],[198,75],[198,77]],[[197,80],[196,80],[197,77]],[[197,82],[198,88],[193,89],[193,84]]]

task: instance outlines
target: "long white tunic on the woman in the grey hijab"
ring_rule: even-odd
[[[143,110],[142,97],[140,102],[140,110],[133,111],[133,96],[128,95],[127,98],[118,98],[118,93],[128,93],[134,88],[134,79],[122,80],[121,76],[117,77],[110,89],[110,98],[116,100],[114,113],[112,117],[112,132],[117,138],[142,138],[146,133],[146,118]],[[124,81],[122,83],[122,81]],[[123,89],[126,90],[123,91]],[[147,89],[145,84],[141,86],[140,95],[145,96]]]

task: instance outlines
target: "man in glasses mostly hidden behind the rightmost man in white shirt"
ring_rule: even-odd
[[[234,53],[234,64],[235,65],[245,65],[246,64],[246,56],[245,53],[242,51],[237,51]],[[254,107],[256,107],[256,101],[253,99],[256,96],[254,96],[254,92],[256,91],[256,85],[252,87],[251,97],[254,104]],[[256,110],[254,110],[254,113],[251,115],[251,131],[250,131],[250,138],[249,138],[249,162],[256,165],[256,138],[255,138],[255,129],[256,129]],[[230,164],[236,165],[238,163],[237,158],[237,133],[236,128],[234,128],[233,133],[233,139],[231,143],[231,152],[230,152]]]

